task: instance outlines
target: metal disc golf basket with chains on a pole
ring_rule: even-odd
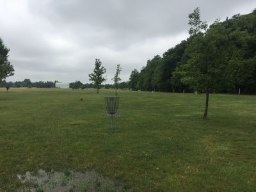
[[[113,116],[118,116],[118,104],[119,104],[119,97],[104,97],[106,111],[105,115],[111,116],[111,128],[113,127]]]

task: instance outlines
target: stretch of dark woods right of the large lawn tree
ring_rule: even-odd
[[[232,41],[236,44],[232,60],[229,61],[233,72],[234,89],[243,93],[256,93],[256,12],[247,15],[234,15],[221,25],[230,30]]]

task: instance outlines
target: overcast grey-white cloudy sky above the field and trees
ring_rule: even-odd
[[[211,23],[250,13],[255,0],[0,0],[0,37],[10,47],[15,76],[7,81],[89,83],[95,58],[108,83],[121,64],[131,70],[188,37],[188,14],[200,7]]]

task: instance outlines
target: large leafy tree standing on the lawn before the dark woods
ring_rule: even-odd
[[[216,20],[205,33],[206,23],[200,21],[199,8],[189,15],[191,44],[186,48],[189,58],[173,72],[179,79],[194,90],[206,94],[204,118],[208,115],[209,93],[221,89],[228,83],[228,60],[234,45],[230,44],[225,28]]]

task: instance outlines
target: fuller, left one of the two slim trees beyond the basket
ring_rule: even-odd
[[[104,81],[106,81],[106,78],[102,77],[104,73],[106,73],[106,68],[101,66],[101,61],[98,59],[95,59],[95,68],[93,70],[92,74],[89,74],[89,80],[92,81],[96,88],[97,93],[99,93],[100,84],[102,84]]]

